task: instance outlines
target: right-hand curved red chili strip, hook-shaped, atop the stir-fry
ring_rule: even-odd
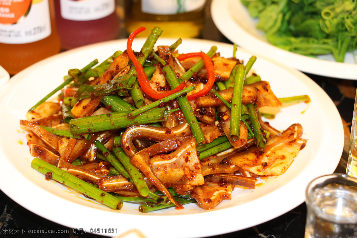
[[[186,60],[188,58],[192,57],[201,57],[203,59],[203,64],[205,64],[205,67],[207,69],[207,75],[208,75],[208,81],[205,85],[205,87],[202,88],[202,90],[196,92],[195,94],[192,94],[190,96],[187,96],[187,99],[189,101],[194,100],[196,97],[206,95],[208,91],[211,90],[213,83],[215,83],[215,72],[213,69],[213,62],[207,54],[203,52],[197,52],[197,53],[188,53],[188,54],[182,54],[177,57],[178,60]]]

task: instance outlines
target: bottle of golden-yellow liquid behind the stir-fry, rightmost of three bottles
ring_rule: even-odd
[[[125,25],[130,34],[144,26],[140,36],[161,27],[164,37],[198,37],[203,29],[206,0],[125,0]]]

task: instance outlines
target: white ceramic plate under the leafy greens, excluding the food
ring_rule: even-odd
[[[280,62],[294,69],[328,77],[357,80],[357,64],[351,53],[344,63],[335,62],[332,55],[317,59],[282,50],[269,44],[240,0],[213,0],[211,15],[218,30],[230,41],[255,55]]]

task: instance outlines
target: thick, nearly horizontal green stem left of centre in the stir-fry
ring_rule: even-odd
[[[127,118],[130,111],[112,112],[97,116],[89,116],[72,119],[69,122],[70,131],[77,134],[86,134],[92,132],[114,130],[126,128],[132,125],[150,124],[167,120],[167,114],[172,111],[165,111],[167,108],[152,108],[151,110],[141,113],[135,118]]]

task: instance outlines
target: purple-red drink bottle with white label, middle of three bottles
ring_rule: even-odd
[[[62,49],[114,40],[120,32],[115,0],[55,0]]]

